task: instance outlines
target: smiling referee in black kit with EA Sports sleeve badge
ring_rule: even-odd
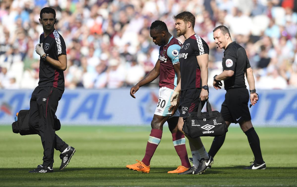
[[[249,99],[251,104],[255,105],[259,96],[256,93],[255,79],[246,51],[235,41],[232,42],[227,27],[223,25],[218,26],[213,32],[215,43],[217,43],[220,49],[225,49],[222,61],[223,72],[219,75],[215,75],[213,82],[214,88],[221,89],[221,80],[224,80],[226,94],[225,101],[221,108],[222,116],[228,127],[230,123],[239,123],[242,131],[247,135],[255,160],[251,162],[252,164],[249,167],[243,169],[266,169],[266,164],[263,161],[260,149],[260,140],[253,128],[248,108]],[[245,85],[244,74],[246,74],[247,82],[249,83],[250,96],[247,86]],[[208,154],[212,157],[215,156],[223,145],[225,136],[226,134],[214,138]]]

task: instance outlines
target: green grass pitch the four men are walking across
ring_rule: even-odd
[[[168,174],[180,165],[168,127],[151,160],[150,173],[126,169],[145,153],[150,127],[62,126],[57,134],[76,152],[55,173],[28,173],[42,164],[38,135],[20,136],[11,126],[0,126],[0,186],[296,186],[297,128],[255,128],[266,170],[242,170],[253,160],[247,137],[239,127],[230,127],[214,165],[203,175]],[[212,137],[203,137],[208,150]],[[187,144],[188,155],[191,152]]]

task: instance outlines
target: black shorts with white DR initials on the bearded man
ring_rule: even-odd
[[[179,100],[179,117],[186,117],[191,112],[197,112],[201,88],[191,88],[181,91],[181,97]],[[202,107],[206,101],[202,101]]]

